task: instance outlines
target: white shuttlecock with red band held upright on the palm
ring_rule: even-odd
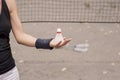
[[[60,28],[57,29],[56,36],[54,38],[54,43],[58,44],[60,41],[64,42],[62,30]]]

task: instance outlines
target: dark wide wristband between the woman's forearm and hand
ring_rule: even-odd
[[[53,47],[50,47],[50,41],[52,39],[37,39],[35,42],[35,47],[37,49],[53,49]]]

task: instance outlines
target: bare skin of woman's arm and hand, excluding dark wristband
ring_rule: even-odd
[[[30,47],[35,47],[36,38],[26,34],[22,28],[22,23],[18,16],[18,9],[17,9],[17,2],[16,0],[6,0],[9,12],[10,12],[10,19],[12,24],[12,32],[15,36],[16,41],[19,44],[23,44]],[[53,39],[54,40],[54,39]],[[64,42],[61,41],[58,44],[54,44],[53,40],[50,42],[51,47],[59,48],[66,45],[71,39],[64,38]]]

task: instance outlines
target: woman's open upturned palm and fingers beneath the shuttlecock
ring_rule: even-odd
[[[54,43],[54,39],[50,42],[50,46],[51,47],[54,47],[54,48],[60,48],[64,45],[66,45],[67,43],[69,43],[71,41],[71,39],[67,39],[67,38],[64,38],[64,42],[60,41],[58,42],[57,44]]]

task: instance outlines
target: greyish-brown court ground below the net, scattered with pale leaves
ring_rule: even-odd
[[[69,45],[88,43],[88,51],[37,50],[17,44],[11,33],[21,80],[120,80],[120,24],[23,24],[25,32],[37,38],[54,37],[58,27],[65,37],[72,38]]]

